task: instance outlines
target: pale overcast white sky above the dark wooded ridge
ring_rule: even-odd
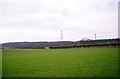
[[[0,42],[118,37],[119,0],[0,0]]]

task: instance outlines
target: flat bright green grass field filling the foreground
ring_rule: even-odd
[[[118,48],[3,50],[3,77],[116,77]]]

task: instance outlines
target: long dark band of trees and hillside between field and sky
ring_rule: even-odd
[[[99,39],[99,40],[80,40],[80,41],[57,41],[57,42],[11,42],[3,43],[2,48],[16,49],[44,49],[49,47],[54,48],[73,48],[73,47],[99,47],[99,46],[114,46],[120,45],[120,38],[116,39]]]

